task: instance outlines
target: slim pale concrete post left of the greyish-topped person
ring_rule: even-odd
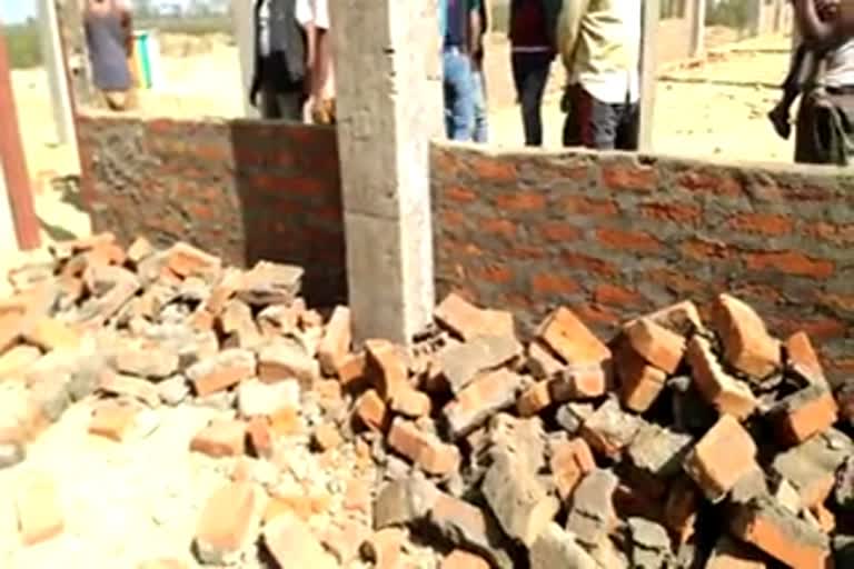
[[[57,141],[60,144],[75,142],[75,120],[71,112],[71,96],[68,92],[66,61],[59,33],[59,19],[54,0],[39,0],[39,36],[41,59],[48,73],[53,122]]]

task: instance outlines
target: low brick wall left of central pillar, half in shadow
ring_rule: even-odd
[[[334,129],[83,114],[78,131],[96,231],[189,241],[238,266],[299,264],[312,303],[346,297]]]

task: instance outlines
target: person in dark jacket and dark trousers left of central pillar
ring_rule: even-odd
[[[255,72],[249,101],[265,119],[302,121],[309,69],[308,34],[295,0],[256,0]]]

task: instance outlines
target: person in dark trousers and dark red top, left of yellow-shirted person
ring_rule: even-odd
[[[570,0],[572,1],[572,0]],[[510,64],[525,144],[543,146],[543,94],[555,59],[560,0],[512,0]]]

